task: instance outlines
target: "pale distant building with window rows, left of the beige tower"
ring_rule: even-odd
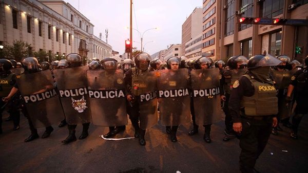
[[[201,57],[202,49],[202,33],[197,35],[195,38],[187,41],[185,44],[185,56],[188,59],[198,59]]]

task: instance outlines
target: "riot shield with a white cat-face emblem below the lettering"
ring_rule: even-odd
[[[87,66],[53,71],[68,124],[91,122],[87,90]]]

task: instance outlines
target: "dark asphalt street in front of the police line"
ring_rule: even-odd
[[[7,118],[4,114],[3,119]],[[290,129],[271,136],[256,163],[260,172],[308,172],[308,117],[300,125],[299,139],[288,135]],[[13,131],[12,122],[3,122],[0,135],[0,172],[239,172],[240,147],[238,139],[223,142],[224,123],[212,125],[210,144],[199,134],[188,136],[190,123],[179,127],[178,142],[172,143],[159,123],[146,132],[146,146],[138,139],[108,141],[100,136],[108,127],[90,125],[89,136],[70,144],[62,144],[67,127],[53,126],[46,139],[25,143],[30,135],[27,119],[21,115],[21,129]],[[41,136],[45,129],[38,129]],[[82,125],[76,128],[76,137]],[[115,138],[133,136],[133,127]]]

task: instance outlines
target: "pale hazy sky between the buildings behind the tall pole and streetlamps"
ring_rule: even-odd
[[[124,52],[124,40],[129,38],[129,0],[64,0],[84,14],[94,25],[99,37],[108,29],[108,44],[114,51]],[[170,44],[181,44],[182,24],[202,0],[134,0],[132,26],[144,33],[143,45],[149,54],[167,49]],[[136,18],[135,18],[136,15]],[[201,21],[200,21],[201,22]],[[140,49],[140,36],[133,30],[133,47]],[[151,42],[154,41],[154,42]]]

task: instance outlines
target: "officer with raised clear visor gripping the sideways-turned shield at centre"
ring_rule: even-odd
[[[142,73],[148,72],[148,67],[150,64],[151,56],[147,53],[140,53],[134,59],[136,64],[136,68],[132,68],[128,70],[124,75],[124,81],[126,85],[126,98],[128,101],[127,104],[127,114],[129,115],[129,119],[132,123],[132,126],[135,129],[134,137],[139,137],[139,144],[145,145],[145,129],[141,129],[139,126],[139,95],[133,94],[133,85],[132,83],[138,82],[138,76]]]

